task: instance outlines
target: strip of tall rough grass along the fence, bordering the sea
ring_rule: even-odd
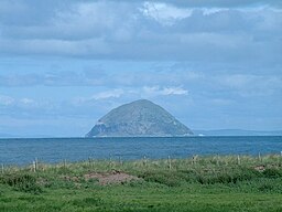
[[[185,183],[237,183],[259,178],[282,178],[282,157],[279,155],[252,156],[194,156],[186,159],[141,159],[135,161],[86,160],[47,165],[40,162],[36,172],[26,167],[9,167],[0,174],[1,182],[12,187],[33,187],[35,179],[58,180],[76,177],[77,180],[89,172],[111,172],[118,170],[138,176],[148,182],[166,186]],[[35,188],[34,188],[35,189]],[[36,190],[36,189],[35,189]]]

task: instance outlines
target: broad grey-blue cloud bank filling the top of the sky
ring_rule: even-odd
[[[39,4],[31,2],[19,1],[18,13],[3,7],[1,55],[282,61],[282,12],[274,1],[205,1],[206,7],[204,1],[64,1],[42,3],[39,21],[33,18]]]

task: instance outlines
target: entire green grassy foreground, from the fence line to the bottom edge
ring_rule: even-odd
[[[282,156],[4,167],[0,211],[282,211]]]

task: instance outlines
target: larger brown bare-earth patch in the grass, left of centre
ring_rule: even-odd
[[[111,183],[123,183],[123,182],[129,182],[131,180],[140,180],[140,178],[135,176],[131,176],[117,170],[107,172],[107,173],[91,172],[91,173],[85,174],[84,178],[85,180],[97,179],[99,181],[99,184],[104,184],[104,186],[111,184]]]

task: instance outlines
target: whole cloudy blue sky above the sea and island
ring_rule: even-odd
[[[80,137],[140,98],[192,130],[281,130],[282,2],[0,1],[0,136]]]

